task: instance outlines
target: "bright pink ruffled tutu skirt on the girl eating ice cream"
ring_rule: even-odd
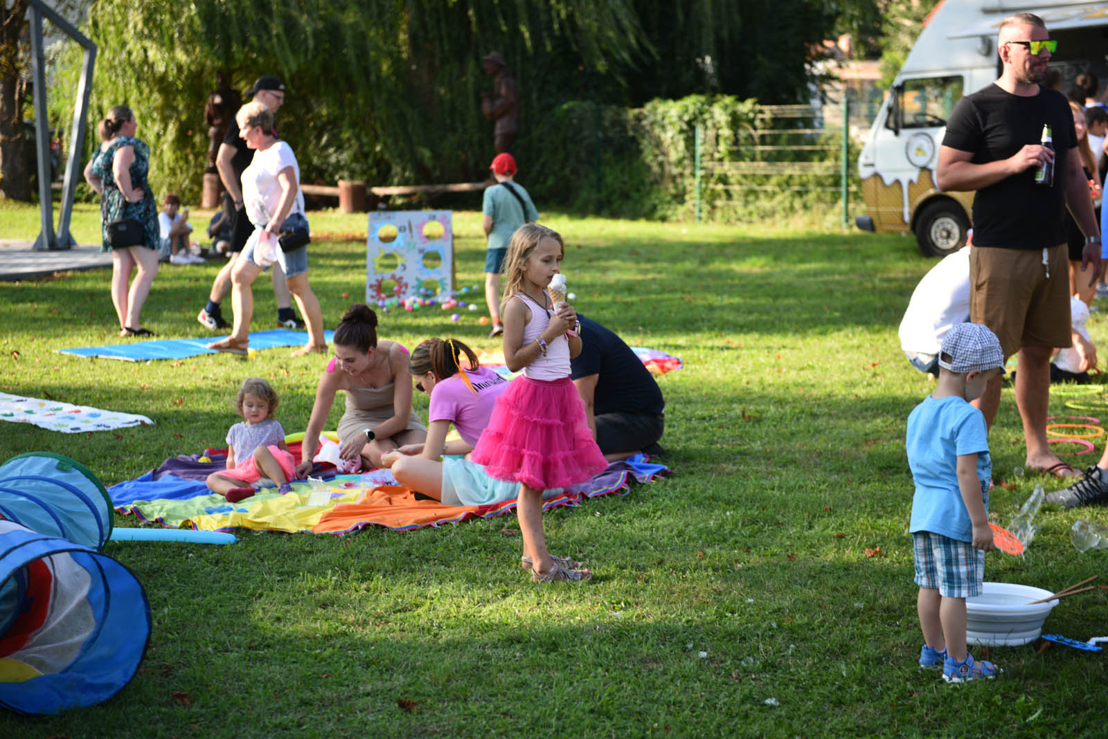
[[[584,482],[608,466],[585,420],[585,404],[568,377],[512,381],[496,398],[489,427],[470,459],[497,480],[535,490]]]

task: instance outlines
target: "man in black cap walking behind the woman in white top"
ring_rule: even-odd
[[[246,97],[277,113],[285,104],[285,84],[271,74],[263,75],[246,91]],[[230,325],[223,318],[219,302],[230,292],[230,273],[235,269],[238,254],[246,247],[246,240],[254,231],[254,225],[246,217],[246,209],[243,206],[242,183],[243,171],[250,166],[253,159],[254,152],[247,148],[246,142],[239,137],[238,126],[228,125],[215,156],[215,166],[219,170],[219,179],[223,180],[226,190],[223,194],[223,209],[230,216],[232,221],[230,259],[216,275],[207,305],[196,316],[202,325],[213,331]],[[289,294],[285,273],[279,263],[274,262],[269,268],[269,278],[274,285],[274,294],[277,296],[277,325],[285,329],[302,329],[304,321],[293,311],[293,296]]]

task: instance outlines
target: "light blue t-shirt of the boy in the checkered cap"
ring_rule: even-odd
[[[957,396],[930,395],[907,417],[907,464],[915,480],[909,531],[931,531],[957,541],[973,541],[973,522],[958,488],[958,455],[977,455],[977,479],[988,511],[993,460],[981,410]]]

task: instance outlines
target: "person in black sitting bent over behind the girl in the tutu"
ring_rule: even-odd
[[[596,445],[608,461],[660,454],[666,402],[654,376],[619,336],[581,313],[581,354],[570,377],[585,402]]]

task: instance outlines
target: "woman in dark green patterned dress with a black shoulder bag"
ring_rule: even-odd
[[[150,147],[135,138],[134,113],[116,105],[100,123],[102,140],[84,168],[84,179],[100,194],[101,251],[112,252],[112,303],[120,319],[121,336],[153,336],[138,319],[150,285],[157,274],[157,204],[146,180],[150,173]],[[112,249],[107,225],[130,218],[143,225],[143,242],[137,247]],[[135,278],[131,273],[137,268]],[[129,284],[130,282],[130,284]]]

